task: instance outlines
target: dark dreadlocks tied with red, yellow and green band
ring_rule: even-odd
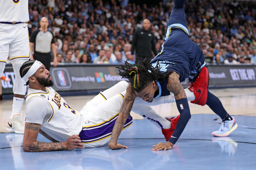
[[[169,70],[165,73],[159,71],[159,63],[156,67],[151,66],[146,59],[141,61],[140,65],[130,64],[125,61],[125,65],[120,65],[118,68],[119,75],[122,78],[127,78],[134,88],[134,91],[141,92],[147,85],[152,82],[162,82],[168,77],[173,71]]]

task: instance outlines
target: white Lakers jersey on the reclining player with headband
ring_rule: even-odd
[[[26,122],[37,123],[37,120],[43,116],[41,129],[55,140],[64,142],[71,135],[79,134],[82,130],[81,115],[51,87],[46,87],[46,90],[47,92],[29,88],[26,96]],[[41,102],[38,103],[37,100]],[[49,108],[47,114],[42,113],[45,108]],[[42,114],[38,114],[40,111]]]

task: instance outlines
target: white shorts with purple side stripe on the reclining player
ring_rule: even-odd
[[[121,85],[121,88],[118,88],[120,84],[124,84],[124,86]],[[110,89],[100,92],[82,108],[80,114],[84,125],[79,137],[84,147],[100,147],[110,141],[127,84],[124,81],[119,82]],[[118,93],[121,91],[123,92]],[[132,120],[133,118],[128,116],[123,129],[130,126]]]

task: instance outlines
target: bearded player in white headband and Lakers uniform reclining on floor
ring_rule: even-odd
[[[127,82],[121,81],[100,92],[78,112],[50,87],[53,82],[49,71],[41,62],[37,60],[25,62],[20,68],[20,75],[26,84],[29,84],[26,96],[24,151],[41,152],[100,147],[110,141],[111,132],[126,93]],[[171,96],[163,97],[162,101],[158,100],[161,98],[148,103],[138,98],[134,102],[132,111],[160,129],[175,129],[175,122],[177,123],[179,116],[168,120],[159,116],[149,106],[159,102],[174,102],[175,99]],[[132,117],[129,116],[123,129],[131,124]],[[37,141],[38,133],[53,143]],[[168,133],[172,134],[172,131]]]

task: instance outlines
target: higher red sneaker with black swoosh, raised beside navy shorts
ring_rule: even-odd
[[[199,73],[195,82],[188,83],[190,87],[188,89],[191,92],[194,92],[195,100],[190,101],[191,103],[198,104],[204,106],[207,101],[207,93],[208,93],[208,86],[209,86],[209,72],[206,67],[203,67],[201,72]]]

